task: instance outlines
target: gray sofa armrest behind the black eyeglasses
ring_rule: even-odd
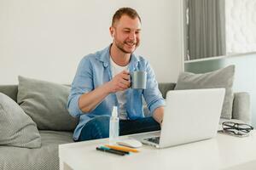
[[[250,94],[246,92],[234,94],[232,119],[238,119],[246,123],[251,123]]]

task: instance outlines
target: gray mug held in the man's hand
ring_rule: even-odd
[[[133,71],[131,75],[131,88],[146,89],[147,72],[146,71]]]

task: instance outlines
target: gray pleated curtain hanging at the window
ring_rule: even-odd
[[[188,59],[224,55],[224,0],[188,0]]]

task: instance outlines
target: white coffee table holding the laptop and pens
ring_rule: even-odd
[[[146,135],[148,133],[143,133]],[[121,137],[122,139],[134,136]],[[218,134],[191,144],[166,149],[143,145],[139,153],[116,156],[96,150],[96,146],[108,144],[108,139],[61,144],[59,146],[60,169],[108,169],[108,170],[170,170],[170,169],[256,169],[256,131],[249,137],[238,138]]]

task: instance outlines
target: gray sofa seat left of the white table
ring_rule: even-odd
[[[59,169],[59,146],[73,142],[73,133],[40,131],[42,147],[26,149],[0,146],[0,169]]]

